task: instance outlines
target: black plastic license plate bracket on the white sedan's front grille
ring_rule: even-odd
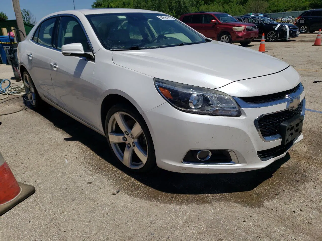
[[[280,123],[279,134],[282,137],[282,145],[286,145],[290,141],[297,138],[302,133],[303,115],[296,115],[293,118]]]

